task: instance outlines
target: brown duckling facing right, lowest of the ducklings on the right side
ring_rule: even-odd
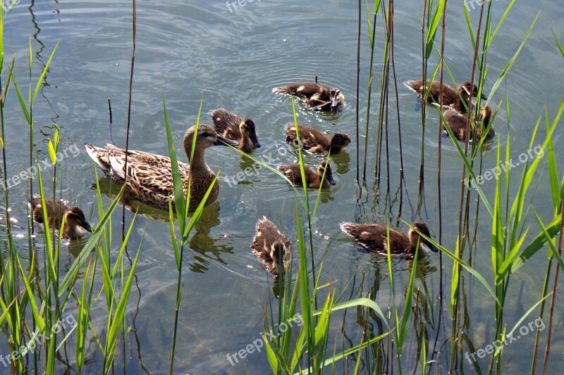
[[[415,258],[417,242],[419,242],[418,259],[424,258],[429,250],[438,251],[432,243],[419,236],[415,229],[430,237],[429,228],[422,222],[413,223],[408,236],[400,231],[396,231],[396,229],[390,229],[390,254],[392,256],[407,259]],[[343,222],[341,223],[341,230],[353,237],[357,243],[367,250],[381,255],[388,254],[388,227],[386,225]]]

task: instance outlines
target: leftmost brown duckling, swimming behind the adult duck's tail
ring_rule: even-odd
[[[33,220],[43,224],[41,197],[34,197],[30,201],[30,205],[33,212]],[[85,231],[92,232],[92,228],[86,221],[84,212],[80,208],[68,207],[65,201],[54,201],[53,199],[46,200],[45,205],[47,206],[47,222],[49,222],[49,227],[59,230],[61,228],[62,215],[65,221],[63,239],[79,239]]]

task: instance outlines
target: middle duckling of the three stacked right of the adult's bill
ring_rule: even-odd
[[[350,144],[350,136],[345,133],[336,133],[333,138],[329,139],[319,130],[305,125],[298,124],[298,132],[300,133],[300,141],[303,148],[312,153],[340,153],[343,148]],[[296,139],[295,125],[293,122],[286,127],[286,142],[293,142]]]

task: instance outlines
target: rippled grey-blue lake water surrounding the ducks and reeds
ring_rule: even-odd
[[[503,15],[509,0],[493,3],[494,23]],[[496,78],[517,51],[527,28],[539,11],[537,2],[518,2],[494,39],[489,53],[489,77],[484,91],[489,94]],[[560,2],[547,1],[532,34],[515,65],[491,100],[496,106],[503,101],[494,127],[496,136],[505,146],[510,139],[513,158],[529,149],[529,140],[537,118],[544,111],[553,119],[564,94],[564,61],[556,47],[552,32],[564,41],[564,7]],[[470,80],[472,44],[468,36],[461,1],[448,3],[446,63],[455,80]],[[503,8],[503,9],[502,9]],[[399,109],[403,140],[405,184],[401,218],[406,222],[423,220],[431,231],[439,233],[436,169],[438,144],[437,114],[429,110],[424,133],[425,185],[424,204],[418,210],[418,176],[421,154],[421,113],[415,110],[416,98],[401,82],[421,77],[422,2],[398,1],[395,9],[395,63],[398,81]],[[479,11],[470,11],[477,25]],[[131,57],[131,4],[125,1],[27,1],[8,13],[4,19],[5,56],[16,56],[14,74],[20,87],[27,87],[27,45],[31,38],[34,80],[57,41],[59,48],[50,65],[44,86],[34,107],[36,119],[35,142],[39,158],[47,158],[47,137],[52,122],[61,126],[61,140],[83,149],[85,142],[95,146],[114,143],[125,146],[128,84]],[[354,1],[275,1],[247,2],[244,7],[230,9],[225,1],[137,1],[137,49],[133,78],[130,148],[166,154],[163,94],[171,118],[177,150],[185,130],[195,123],[202,101],[201,122],[209,123],[209,110],[226,108],[257,124],[262,147],[254,155],[270,155],[276,163],[295,163],[295,152],[286,148],[283,129],[293,120],[290,99],[271,93],[274,87],[290,82],[314,80],[339,87],[345,94],[348,108],[337,115],[312,113],[297,103],[300,122],[324,131],[347,132],[353,137],[344,153],[331,157],[336,171],[336,186],[324,191],[317,217],[313,222],[317,261],[324,260],[321,284],[334,282],[337,294],[345,290],[345,298],[370,296],[383,310],[391,307],[392,297],[388,270],[381,258],[358,249],[339,229],[343,221],[386,222],[395,220],[399,210],[399,169],[397,113],[391,98],[389,124],[390,193],[386,194],[386,171],[382,172],[379,200],[374,193],[374,163],[376,116],[379,103],[379,74],[383,31],[381,21],[376,32],[374,63],[374,91],[372,96],[371,132],[367,165],[367,183],[362,186],[360,203],[356,176],[355,90],[357,51],[357,5]],[[362,55],[360,77],[360,127],[366,119],[367,74],[369,42],[367,21],[362,19]],[[431,63],[436,63],[436,55]],[[6,67],[5,67],[6,68]],[[432,71],[433,68],[429,68]],[[392,91],[391,91],[392,92]],[[391,94],[391,97],[393,95]],[[113,125],[109,125],[108,98],[111,98]],[[505,101],[510,104],[510,123],[505,113]],[[25,118],[18,108],[15,92],[8,97],[6,107],[6,153],[8,175],[25,170],[29,163],[29,134]],[[392,109],[394,108],[394,109]],[[541,127],[543,127],[541,125]],[[544,132],[541,132],[544,133]],[[497,139],[497,138],[496,138]],[[544,140],[541,134],[535,145]],[[560,168],[564,165],[562,130],[553,136]],[[360,159],[364,139],[360,139]],[[505,148],[504,148],[505,150]],[[496,163],[496,145],[484,155],[484,170]],[[505,152],[505,151],[503,151]],[[180,160],[185,155],[179,154]],[[442,205],[443,245],[454,250],[458,231],[460,196],[460,163],[455,147],[443,139]],[[321,157],[305,156],[308,165],[317,165]],[[185,374],[262,374],[269,371],[264,352],[252,353],[233,365],[227,355],[238,352],[259,338],[262,333],[262,306],[269,298],[272,278],[262,269],[250,251],[257,220],[266,215],[296,243],[294,193],[283,180],[266,170],[233,184],[228,178],[250,165],[238,153],[226,147],[210,148],[207,163],[213,170],[221,169],[220,196],[217,203],[204,211],[197,231],[189,241],[183,274],[184,293],[180,310],[180,326],[176,348],[176,373]],[[92,224],[97,216],[94,167],[86,153],[76,158],[64,158],[60,163],[63,196],[85,211]],[[362,167],[362,163],[361,163]],[[546,177],[546,160],[541,160]],[[562,171],[560,171],[562,172]],[[99,175],[102,175],[98,170]],[[516,167],[512,181],[521,170]],[[362,174],[362,170],[361,170]],[[540,175],[540,174],[539,174]],[[232,179],[230,181],[233,181]],[[544,180],[546,181],[546,180]],[[495,183],[482,185],[488,197],[494,196]],[[545,182],[539,185],[534,207],[544,220],[552,217],[550,191]],[[315,193],[312,192],[312,197]],[[11,191],[14,216],[20,222],[16,232],[25,230],[25,186]],[[109,205],[110,198],[104,196]],[[128,222],[133,214],[126,213]],[[477,248],[473,255],[475,267],[491,283],[491,220],[485,210],[480,212]],[[115,243],[119,241],[118,215],[113,222]],[[534,217],[529,220],[534,224]],[[536,226],[533,230],[537,233]],[[405,224],[400,229],[407,231]],[[4,231],[2,236],[4,236]],[[137,279],[128,304],[127,324],[132,331],[125,343],[126,352],[118,348],[117,364],[125,357],[131,374],[168,372],[171,350],[171,331],[174,322],[176,296],[176,265],[171,248],[168,222],[138,217],[130,239],[130,251],[142,242],[137,265]],[[27,241],[18,244],[27,254]],[[118,247],[114,248],[117,253]],[[66,254],[62,264],[71,264]],[[295,258],[296,260],[296,258]],[[409,279],[410,262],[394,263],[396,304],[403,308],[405,286]],[[439,305],[439,255],[419,262],[417,286],[424,291],[429,309],[429,339],[436,336]],[[538,272],[542,269],[542,272]],[[537,302],[546,269],[546,253],[520,269],[511,279],[510,295],[505,305],[508,328]],[[452,264],[444,262],[444,280],[450,284]],[[560,286],[562,286],[560,278]],[[102,279],[97,279],[98,287]],[[487,291],[477,281],[465,275],[465,283],[473,283],[467,298],[467,333],[475,348],[492,341],[495,322],[491,319],[494,305]],[[491,283],[492,284],[492,283]],[[97,289],[96,289],[97,290]],[[448,317],[448,288],[444,291],[447,317],[443,324],[450,328]],[[518,298],[517,298],[518,296]],[[562,298],[557,310],[562,312]],[[92,324],[102,332],[106,310],[102,298],[92,311]],[[73,308],[68,312],[73,313]],[[556,314],[558,329],[553,338],[552,370],[564,366],[561,313]],[[364,319],[364,318],[362,318]],[[356,310],[348,314],[336,313],[332,320],[331,348],[341,348],[348,340],[360,343],[362,319]],[[372,319],[372,318],[371,318]],[[529,319],[529,320],[532,320]],[[529,322],[527,320],[526,322]],[[374,321],[371,321],[374,324]],[[377,330],[373,331],[378,334]],[[414,333],[415,335],[415,333]],[[545,336],[546,337],[546,336]],[[448,339],[443,330],[439,346]],[[410,337],[406,370],[415,368],[417,341]],[[508,361],[505,371],[528,371],[531,363],[534,335],[523,337],[505,348],[503,359]],[[346,344],[348,345],[348,344]],[[345,346],[346,346],[345,345]],[[448,343],[450,345],[450,341]],[[72,348],[72,345],[71,345]],[[6,344],[0,343],[2,352]],[[71,352],[73,352],[71,350]],[[448,351],[438,356],[436,373],[448,368]],[[73,363],[73,356],[68,359]],[[99,373],[103,358],[94,341],[87,352],[90,372]],[[485,362],[480,362],[486,368]],[[61,368],[63,365],[61,364]],[[337,372],[347,371],[341,362]],[[464,372],[465,369],[460,369]],[[118,369],[118,372],[121,369]],[[473,367],[467,366],[471,373]]]

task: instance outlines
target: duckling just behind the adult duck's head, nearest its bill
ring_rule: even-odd
[[[241,151],[249,153],[260,147],[259,138],[255,131],[255,122],[252,122],[252,120],[243,119],[223,108],[216,109],[209,115],[214,120],[217,134],[221,134],[226,139],[238,141],[237,148]]]

